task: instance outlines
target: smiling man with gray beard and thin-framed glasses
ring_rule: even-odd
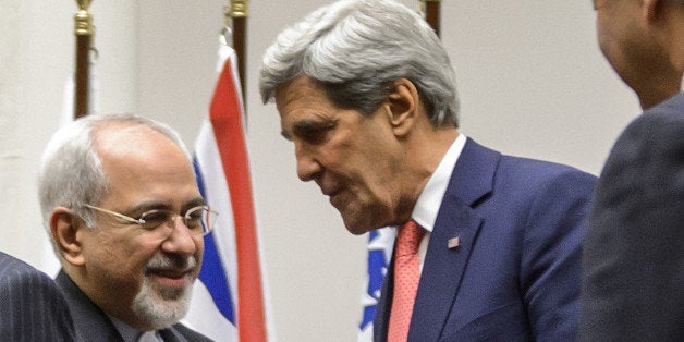
[[[209,340],[179,323],[216,212],[175,131],[132,114],[76,120],[49,142],[38,186],[82,340]]]

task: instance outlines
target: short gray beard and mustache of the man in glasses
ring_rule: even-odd
[[[170,257],[167,255],[156,255],[146,265],[147,269],[175,269],[190,270],[195,268],[197,261],[194,257]],[[192,278],[192,272],[185,277]],[[149,330],[168,328],[187,314],[192,295],[192,283],[190,279],[183,289],[171,289],[155,284],[148,277],[143,278],[141,291],[133,298],[131,309],[145,322]]]

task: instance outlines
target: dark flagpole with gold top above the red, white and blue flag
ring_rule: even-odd
[[[248,0],[231,0],[229,11],[225,13],[225,21],[233,22],[233,49],[237,56],[237,75],[240,76],[240,87],[242,90],[243,106],[245,106],[247,93],[245,91],[245,64],[247,61],[247,16]],[[228,24],[228,23],[227,23]],[[245,106],[246,107],[246,106]]]

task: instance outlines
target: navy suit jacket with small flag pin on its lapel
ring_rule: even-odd
[[[430,235],[408,341],[573,341],[596,178],[468,139]],[[448,241],[459,236],[459,247]],[[390,265],[374,322],[387,340]]]

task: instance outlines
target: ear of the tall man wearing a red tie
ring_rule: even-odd
[[[406,135],[418,119],[418,89],[407,78],[399,78],[392,83],[392,90],[388,96],[388,105],[384,105],[390,118],[390,124],[394,135]]]

